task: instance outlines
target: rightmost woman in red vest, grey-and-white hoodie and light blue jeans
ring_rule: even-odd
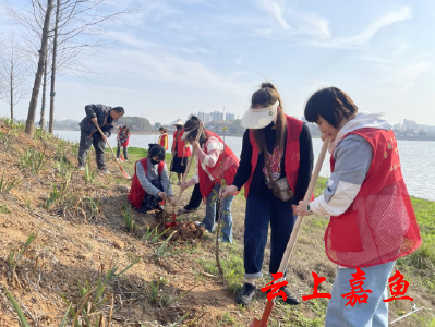
[[[420,230],[390,123],[383,114],[358,112],[337,87],[314,93],[305,118],[330,137],[331,174],[323,195],[300,202],[298,215],[330,216],[325,251],[338,265],[325,326],[388,326],[387,284],[396,259],[421,245]],[[364,274],[366,302],[346,306],[349,280]]]

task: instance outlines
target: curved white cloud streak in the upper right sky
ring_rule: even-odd
[[[368,40],[380,28],[410,19],[412,19],[411,9],[409,7],[403,7],[401,10],[389,13],[386,16],[383,16],[379,20],[375,21],[360,34],[350,37],[331,38],[327,41],[315,41],[314,45],[330,48],[359,48],[368,43]]]

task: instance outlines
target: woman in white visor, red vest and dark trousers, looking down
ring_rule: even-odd
[[[221,196],[240,191],[246,196],[244,231],[245,282],[235,302],[247,306],[262,277],[264,250],[270,223],[269,272],[279,269],[297,216],[292,204],[303,199],[313,170],[313,146],[309,128],[283,112],[282,100],[271,83],[263,83],[252,95],[251,107],[242,118],[240,167],[234,182]],[[278,192],[277,184],[286,192]],[[287,304],[299,304],[287,287]]]

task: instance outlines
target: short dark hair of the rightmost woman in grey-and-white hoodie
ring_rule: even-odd
[[[309,122],[316,123],[321,116],[335,129],[339,129],[343,119],[350,119],[358,107],[350,96],[338,87],[325,87],[315,92],[306,101],[304,116]]]

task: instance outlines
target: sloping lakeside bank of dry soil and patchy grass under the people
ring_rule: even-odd
[[[122,166],[132,175],[134,162],[147,152],[129,148],[129,161]],[[138,327],[249,326],[254,316],[261,317],[266,301],[262,292],[249,308],[237,306],[233,300],[244,272],[243,192],[232,206],[234,243],[222,244],[219,251],[222,284],[214,234],[177,241],[173,234],[168,241],[168,235],[154,231],[161,221],[158,217],[137,214],[125,205],[131,181],[122,178],[111,154],[107,154],[110,175],[96,172],[94,152],[89,154],[88,171],[75,171],[76,154],[77,144],[38,131],[31,138],[22,125],[0,121],[0,327],[19,326],[7,288],[29,324],[41,327],[59,326],[69,303],[78,313],[80,327],[87,324],[86,319],[93,326],[107,326],[109,317],[112,326]],[[169,166],[169,154],[166,161]],[[318,181],[316,194],[325,183],[325,179]],[[184,192],[183,203],[191,192]],[[398,261],[396,268],[410,282],[407,295],[414,302],[390,303],[390,320],[415,303],[426,308],[395,326],[434,327],[435,203],[412,201],[423,246]],[[204,209],[202,205],[178,220],[201,220]],[[336,266],[324,253],[327,223],[325,217],[304,219],[288,274],[289,286],[299,298],[312,293],[312,271],[326,278],[319,291],[330,292]],[[269,247],[265,275],[268,257]],[[267,282],[264,277],[257,284]],[[86,296],[90,301],[85,301]],[[323,299],[297,307],[278,304],[269,326],[323,326],[326,306]],[[73,317],[67,314],[70,325]]]

